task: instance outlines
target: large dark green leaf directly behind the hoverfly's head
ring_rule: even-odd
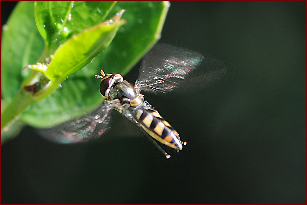
[[[62,88],[33,104],[21,119],[36,127],[52,127],[94,110],[104,99],[95,74],[101,69],[106,73],[126,74],[159,40],[168,7],[168,2],[117,2],[107,18],[126,9],[122,18],[127,23],[119,29],[109,47],[61,83]]]

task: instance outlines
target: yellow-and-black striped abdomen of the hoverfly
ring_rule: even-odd
[[[176,130],[165,121],[157,110],[140,106],[131,114],[148,135],[159,142],[177,150],[182,149],[182,142]]]

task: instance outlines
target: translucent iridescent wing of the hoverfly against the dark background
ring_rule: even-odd
[[[200,67],[196,69],[198,72],[193,72],[193,75],[188,77],[197,66]],[[158,43],[142,59],[134,86],[145,92],[166,93],[177,87],[188,89],[195,85],[207,85],[223,77],[225,73],[226,66],[217,59]],[[188,80],[182,83],[186,78]]]

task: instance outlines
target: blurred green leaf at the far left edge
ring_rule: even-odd
[[[6,25],[1,39],[1,95],[9,104],[18,93],[23,79],[44,50],[44,40],[34,21],[34,2],[19,2]]]

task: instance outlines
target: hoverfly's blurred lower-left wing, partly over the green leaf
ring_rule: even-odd
[[[103,103],[91,114],[62,123],[55,127],[40,129],[39,133],[45,138],[60,143],[84,142],[98,139],[108,128],[110,123],[107,103]]]

